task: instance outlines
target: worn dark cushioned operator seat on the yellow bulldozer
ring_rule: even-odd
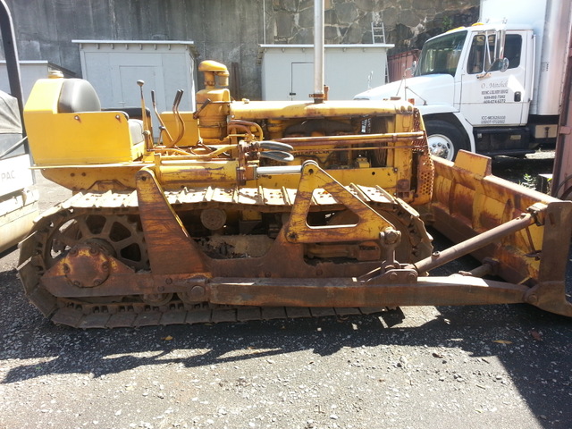
[[[101,102],[96,89],[88,80],[65,79],[58,99],[58,113],[79,114],[81,112],[101,112]],[[108,109],[105,109],[106,111]],[[130,119],[129,114],[121,109],[114,109],[125,115],[129,123],[131,143],[136,145],[145,140],[143,136],[143,121]]]

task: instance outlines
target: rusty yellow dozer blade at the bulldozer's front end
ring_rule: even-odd
[[[433,226],[455,243],[475,239],[517,218],[533,223],[470,249],[486,269],[507,282],[528,287],[525,301],[572,316],[566,299],[566,265],[572,232],[572,202],[526,189],[492,175],[491,159],[460,151],[455,164],[433,159]],[[463,245],[457,255],[468,253]],[[436,260],[430,267],[442,265]]]

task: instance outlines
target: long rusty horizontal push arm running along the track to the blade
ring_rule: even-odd
[[[226,305],[284,307],[366,307],[368,305],[436,306],[525,302],[528,288],[474,277],[426,277],[416,282],[389,280],[369,283],[357,279],[214,278],[211,302]]]

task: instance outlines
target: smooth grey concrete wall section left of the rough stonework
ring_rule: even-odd
[[[7,0],[21,59],[81,75],[72,39],[192,40],[199,61],[240,63],[239,97],[259,97],[261,0]]]

